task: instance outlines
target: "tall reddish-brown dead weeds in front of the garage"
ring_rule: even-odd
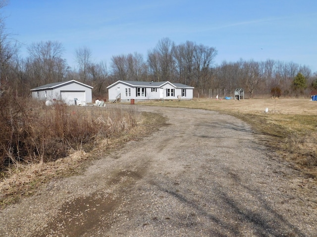
[[[133,109],[67,106],[12,96],[0,96],[0,171],[12,164],[64,158],[90,151],[96,144],[136,125]]]

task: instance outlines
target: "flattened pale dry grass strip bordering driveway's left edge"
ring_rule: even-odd
[[[73,108],[74,109],[74,108]],[[118,149],[127,141],[138,140],[163,125],[166,118],[153,113],[139,113],[133,107],[111,106],[108,108],[77,108],[78,111],[89,111],[88,116],[96,118],[97,124],[108,126],[105,136],[100,136],[93,145],[93,150],[69,149],[69,155],[57,160],[11,164],[3,170],[0,177],[0,206],[18,201],[21,197],[33,195],[41,184],[53,178],[65,177],[82,172],[87,161],[98,159],[112,150]],[[100,115],[100,111],[102,115]],[[105,117],[104,113],[107,113]],[[137,124],[132,124],[135,121]],[[122,132],[120,132],[122,131]],[[100,131],[102,133],[102,131]],[[104,134],[105,135],[105,134]]]

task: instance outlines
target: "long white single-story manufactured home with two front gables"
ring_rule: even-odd
[[[127,81],[118,80],[107,86],[109,101],[129,102],[145,100],[191,100],[194,87],[169,81]]]

